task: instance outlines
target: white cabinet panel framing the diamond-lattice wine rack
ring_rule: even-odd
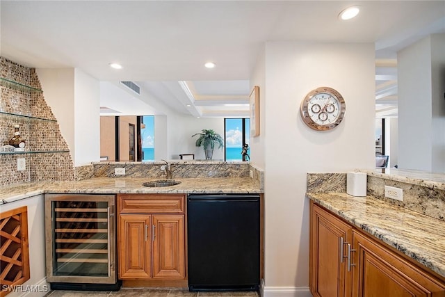
[[[8,297],[17,296],[44,296],[49,291],[45,264],[44,246],[44,198],[37,195],[25,200],[18,200],[1,205],[0,212],[16,209],[22,206],[28,207],[28,236],[29,236],[29,266],[30,278],[22,285],[24,292],[15,291]],[[29,286],[29,287],[27,287]],[[33,286],[33,287],[31,287]],[[28,291],[26,291],[26,288]],[[31,289],[33,292],[31,292]]]

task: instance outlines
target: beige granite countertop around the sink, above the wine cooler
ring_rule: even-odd
[[[142,184],[155,177],[95,177],[76,182],[27,182],[0,187],[0,204],[43,193],[263,193],[250,177],[175,178],[175,186],[146,187]]]

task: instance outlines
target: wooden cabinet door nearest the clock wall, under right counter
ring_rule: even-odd
[[[313,296],[350,296],[346,250],[352,227],[311,202],[309,287]],[[343,251],[344,250],[344,251]]]

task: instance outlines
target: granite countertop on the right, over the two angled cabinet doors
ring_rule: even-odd
[[[445,222],[383,200],[347,193],[307,193],[367,234],[430,268],[445,278]]]

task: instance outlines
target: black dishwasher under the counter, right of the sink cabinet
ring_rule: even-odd
[[[190,291],[257,291],[260,208],[258,194],[190,194]]]

